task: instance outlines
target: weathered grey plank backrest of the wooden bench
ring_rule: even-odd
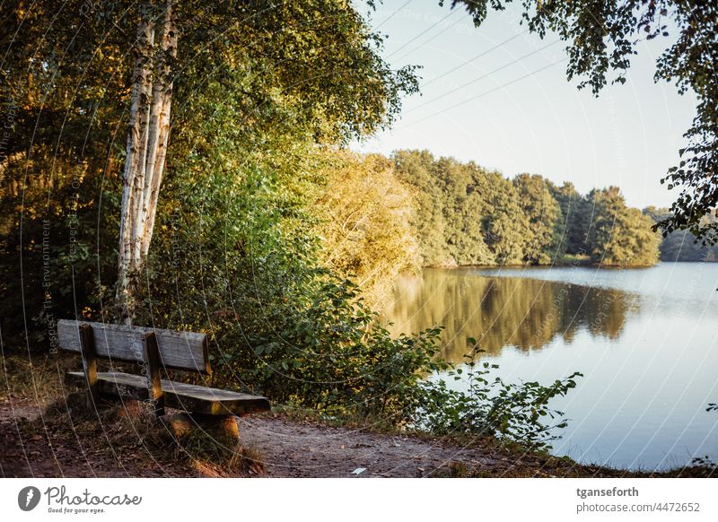
[[[161,363],[165,368],[194,371],[205,375],[212,371],[209,366],[205,334],[61,319],[57,321],[57,337],[61,349],[82,352],[81,325],[92,327],[94,352],[97,357],[141,362],[144,336],[153,332],[157,339]]]

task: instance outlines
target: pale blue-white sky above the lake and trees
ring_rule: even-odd
[[[616,185],[632,206],[669,206],[679,194],[660,179],[696,112],[692,93],[653,82],[670,40],[641,42],[626,83],[595,98],[567,81],[565,43],[529,34],[520,18],[516,8],[491,12],[476,28],[463,8],[438,0],[384,0],[371,14],[388,37],[382,55],[392,68],[421,65],[421,94],[404,99],[390,129],[352,148],[426,149],[506,177],[540,174],[582,193]]]

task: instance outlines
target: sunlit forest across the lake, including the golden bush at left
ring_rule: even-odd
[[[639,210],[618,187],[580,194],[536,174],[507,178],[427,151],[337,154],[318,200],[324,261],[370,297],[424,266],[604,265],[714,261],[687,231],[652,229],[667,209]],[[707,218],[706,218],[707,219]]]

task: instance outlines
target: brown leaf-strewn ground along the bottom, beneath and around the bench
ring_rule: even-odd
[[[98,417],[68,402],[64,369],[4,359],[0,475],[4,477],[622,477],[714,476],[715,468],[635,473],[505,448],[495,439],[431,438],[372,426],[330,426],[266,413],[238,419],[240,465],[197,457],[148,419],[146,406],[110,405]],[[202,434],[194,443],[206,444]],[[193,448],[194,450],[195,448]],[[233,453],[232,453],[233,452]]]

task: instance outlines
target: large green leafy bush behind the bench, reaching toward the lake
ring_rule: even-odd
[[[320,265],[311,202],[326,151],[281,135],[248,148],[231,126],[211,131],[211,146],[197,140],[165,186],[137,324],[206,332],[213,384],[278,404],[527,445],[548,439],[541,419],[558,413],[547,402],[572,383],[488,384],[480,372],[465,394],[429,383],[451,370],[437,357],[440,330],[392,337],[357,285]]]

